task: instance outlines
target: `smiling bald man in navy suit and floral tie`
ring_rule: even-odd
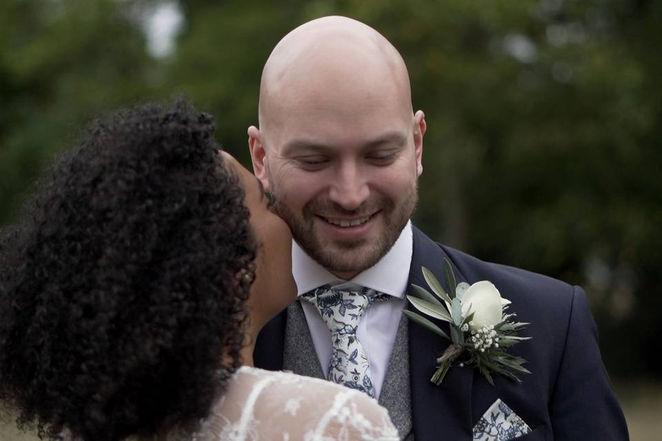
[[[510,438],[628,439],[581,288],[482,262],[410,222],[425,130],[403,59],[367,25],[324,17],[274,48],[249,147],[292,229],[301,301],[263,329],[256,365],[363,390],[407,440],[496,439],[479,435],[496,431],[481,417],[499,412],[519,428]],[[491,280],[531,323],[531,340],[512,348],[532,371],[523,384],[497,377],[492,386],[459,365],[440,386],[430,382],[448,341],[409,325],[402,311],[412,284],[428,288],[421,267],[443,280],[444,258],[458,281]]]

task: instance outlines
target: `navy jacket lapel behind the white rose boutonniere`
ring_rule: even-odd
[[[444,289],[448,291],[443,280],[443,258],[448,256],[437,243],[416,227],[413,228],[413,236],[414,254],[408,289],[414,283],[432,291],[421,273],[421,267],[425,266],[437,276]],[[465,281],[457,268],[453,269],[458,283]],[[408,308],[411,309],[411,306],[408,305]],[[448,323],[434,319],[432,321],[448,332]],[[432,384],[430,378],[437,369],[436,359],[450,342],[416,323],[410,322],[409,325],[410,381],[415,437],[420,440],[431,440],[443,435],[443,438],[449,440],[471,440],[471,391],[474,369],[454,365],[441,385]]]

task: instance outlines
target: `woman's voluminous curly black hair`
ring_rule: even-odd
[[[225,390],[257,243],[213,133],[182,99],[95,121],[0,232],[0,401],[19,427],[151,435]]]

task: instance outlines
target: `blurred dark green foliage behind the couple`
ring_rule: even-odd
[[[185,94],[248,165],[273,46],[346,15],[401,51],[425,111],[417,225],[582,285],[610,373],[662,376],[662,3],[182,1],[177,46],[157,59],[141,19],[161,3],[0,2],[0,225],[86,121],[122,105]]]

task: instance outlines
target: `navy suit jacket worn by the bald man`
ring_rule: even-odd
[[[494,376],[494,386],[475,369],[454,365],[443,382],[430,382],[436,358],[448,340],[410,322],[409,358],[412,418],[417,440],[472,440],[472,428],[501,398],[532,429],[517,440],[628,440],[628,429],[603,365],[596,327],[579,287],[521,269],[485,263],[430,240],[413,229],[410,285],[430,290],[421,267],[443,282],[443,258],[457,282],[490,280],[512,303],[517,321],[530,322],[521,336],[530,340],[508,349],[528,360],[532,373],[522,384]],[[448,287],[445,287],[448,289]],[[266,325],[257,339],[254,362],[263,369],[283,366],[285,313]],[[433,320],[434,321],[434,320]],[[442,329],[448,323],[437,322]]]

